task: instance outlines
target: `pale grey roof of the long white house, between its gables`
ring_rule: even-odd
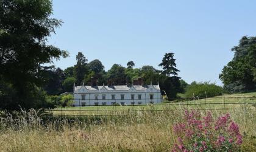
[[[133,85],[133,87],[137,90],[146,90],[149,88],[150,85],[143,85],[143,86],[138,86],[138,85]],[[158,85],[152,85],[155,89],[160,90]],[[129,90],[132,86],[127,86],[127,85],[120,85],[120,86],[85,86],[85,88],[89,91],[97,91],[100,90],[102,88],[106,88],[107,90],[111,91],[111,90],[118,90],[118,91],[122,91],[122,90]],[[75,86],[74,91],[78,91],[80,88],[82,88],[82,86]]]

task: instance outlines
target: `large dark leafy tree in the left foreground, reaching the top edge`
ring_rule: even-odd
[[[68,52],[46,44],[48,36],[62,24],[51,15],[50,0],[0,1],[0,78],[16,92],[1,108],[41,106],[43,102],[33,98],[43,95],[40,87],[47,67],[42,64],[68,57]]]

